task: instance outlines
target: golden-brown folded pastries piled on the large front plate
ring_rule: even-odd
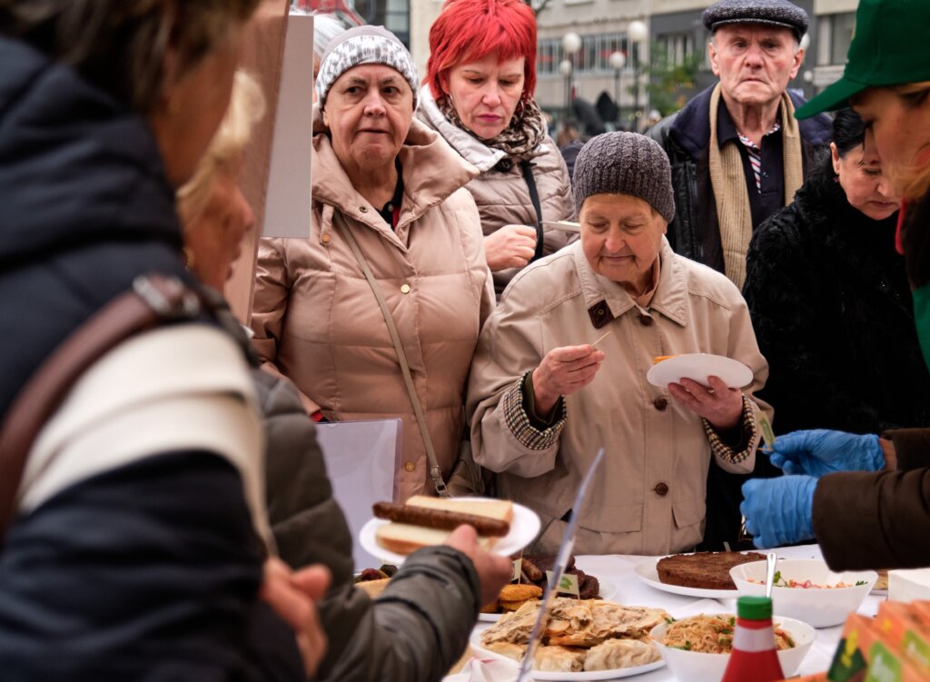
[[[538,616],[527,602],[484,631],[472,634],[479,655],[519,662]],[[555,597],[536,650],[536,680],[604,680],[640,675],[664,665],[648,633],[669,614],[661,608],[623,606],[604,599]]]

